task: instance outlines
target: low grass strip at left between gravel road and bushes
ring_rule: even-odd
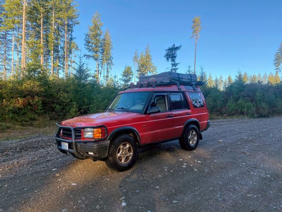
[[[21,126],[18,123],[0,122],[0,141],[16,140],[32,135],[54,135],[56,132],[56,121],[38,120],[30,126]]]

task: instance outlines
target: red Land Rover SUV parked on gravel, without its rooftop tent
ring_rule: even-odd
[[[197,83],[187,84],[131,84],[104,113],[57,123],[57,148],[78,159],[106,161],[116,171],[130,169],[138,148],[148,144],[179,139],[182,149],[194,150],[210,126],[209,111]]]

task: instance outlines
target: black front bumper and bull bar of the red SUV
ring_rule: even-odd
[[[75,140],[75,136],[74,136],[75,127],[62,126],[59,123],[57,123],[57,126],[58,126],[58,131],[54,136],[55,136],[55,140],[57,142],[57,148],[62,153],[64,153],[64,154],[71,153],[79,159],[86,159],[86,158],[92,158],[92,159],[96,159],[96,160],[106,159],[107,154],[108,154],[109,144],[110,144],[109,140],[100,140],[100,141],[97,141],[97,140],[87,140],[87,141],[86,140]],[[64,128],[71,130],[71,135],[72,135],[71,140],[62,138],[60,136],[60,132]],[[81,127],[79,127],[79,128],[81,128]],[[87,128],[89,128],[89,127],[87,127]],[[65,142],[65,143],[68,144],[68,150],[65,150],[65,149],[62,148],[62,142]]]

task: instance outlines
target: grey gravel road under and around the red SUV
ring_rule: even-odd
[[[50,135],[2,141],[0,211],[282,211],[282,117],[213,120],[195,151],[146,147],[123,173]]]

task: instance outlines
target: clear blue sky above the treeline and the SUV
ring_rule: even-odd
[[[178,52],[179,73],[194,67],[192,19],[200,16],[203,31],[198,41],[197,65],[213,76],[274,72],[273,57],[282,41],[282,0],[77,0],[80,24],[76,42],[85,53],[84,37],[95,11],[103,30],[113,41],[113,75],[125,65],[133,67],[134,51],[149,44],[158,73],[169,68],[164,49],[173,43]],[[88,61],[92,71],[95,62]],[[133,67],[134,69],[134,67]]]

